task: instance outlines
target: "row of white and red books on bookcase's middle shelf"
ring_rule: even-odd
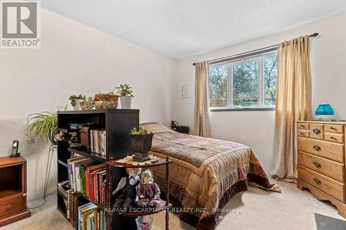
[[[86,195],[90,201],[106,204],[106,165],[88,157],[71,157],[67,160],[69,186]]]

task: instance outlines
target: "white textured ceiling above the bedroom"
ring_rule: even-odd
[[[42,0],[41,4],[177,59],[346,12],[345,0]]]

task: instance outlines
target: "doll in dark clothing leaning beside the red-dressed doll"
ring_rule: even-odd
[[[126,168],[127,177],[121,178],[116,190],[113,191],[114,205],[113,208],[121,209],[127,212],[138,202],[137,190],[140,183],[139,175],[141,168]]]

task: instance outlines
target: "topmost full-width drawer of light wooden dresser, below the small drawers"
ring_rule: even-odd
[[[298,150],[335,160],[340,163],[343,163],[343,148],[343,144],[298,137]]]

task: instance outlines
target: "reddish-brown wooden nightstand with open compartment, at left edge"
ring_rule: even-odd
[[[0,157],[0,227],[30,215],[26,205],[26,160]]]

